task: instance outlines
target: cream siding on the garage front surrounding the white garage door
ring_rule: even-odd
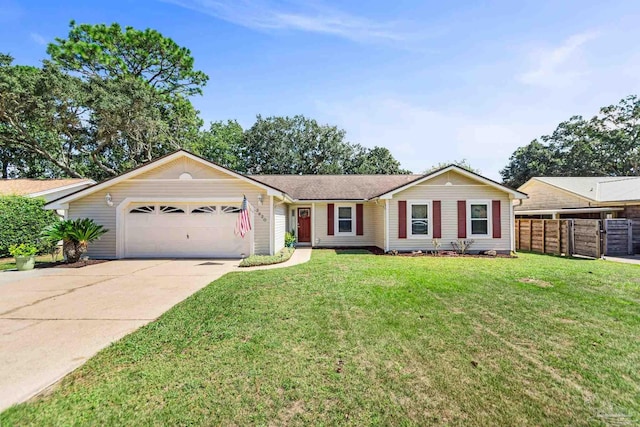
[[[201,175],[202,171],[193,171],[189,168],[184,169],[189,164],[200,164],[172,162],[175,172],[194,172]],[[150,171],[153,172],[153,171]],[[92,218],[97,223],[104,225],[110,231],[102,236],[102,238],[89,245],[88,255],[92,258],[115,258],[116,257],[116,211],[118,205],[126,198],[135,198],[143,201],[145,197],[149,198],[229,198],[237,199],[242,195],[247,196],[248,202],[255,208],[253,215],[254,222],[254,253],[269,254],[269,227],[272,219],[269,217],[269,209],[267,203],[263,206],[258,204],[258,195],[263,196],[263,200],[268,200],[266,192],[261,188],[254,186],[240,179],[222,179],[217,181],[205,180],[173,180],[175,173],[170,173],[169,169],[163,168],[164,176],[169,176],[166,180],[157,181],[123,181],[96,193],[90,194],[79,200],[69,204],[68,217],[75,218]],[[165,175],[166,174],[166,175]],[[218,178],[218,171],[212,170],[212,174]],[[148,175],[153,176],[153,175]],[[157,175],[155,175],[157,176]],[[195,176],[195,175],[194,175]],[[201,175],[202,176],[202,175]],[[136,177],[139,178],[139,177]],[[107,206],[105,196],[111,194],[113,206]]]

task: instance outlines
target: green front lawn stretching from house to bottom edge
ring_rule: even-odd
[[[0,425],[635,425],[639,304],[634,265],[314,251],[223,277]]]

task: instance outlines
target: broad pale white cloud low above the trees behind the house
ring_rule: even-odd
[[[548,131],[548,124],[541,121],[511,118],[502,122],[394,98],[318,103],[316,107],[321,121],[345,129],[349,141],[387,147],[404,168],[417,173],[441,162],[467,159],[487,177],[499,180],[499,171],[513,151],[529,143],[532,135]]]

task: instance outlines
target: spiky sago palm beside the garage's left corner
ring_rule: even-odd
[[[74,263],[87,253],[89,243],[99,239],[107,231],[109,230],[89,218],[67,219],[47,227],[43,237],[52,242],[62,240],[62,251],[67,262]]]

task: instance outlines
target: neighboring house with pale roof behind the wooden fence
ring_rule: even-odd
[[[640,177],[534,177],[518,190],[519,218],[640,219]]]

